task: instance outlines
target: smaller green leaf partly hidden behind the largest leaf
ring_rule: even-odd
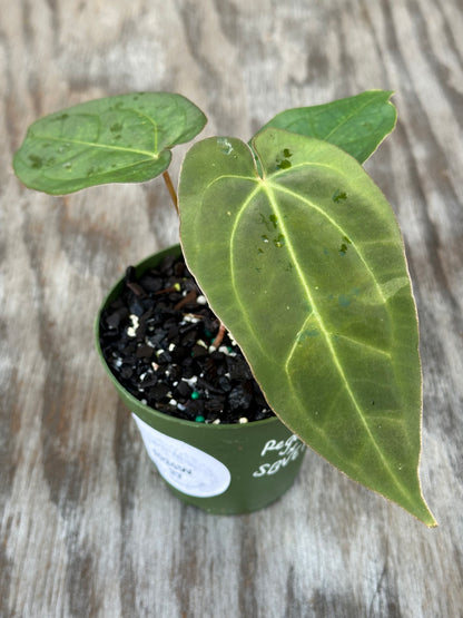
[[[367,90],[324,105],[287,109],[262,130],[273,127],[324,139],[364,163],[395,127],[397,115],[390,101],[392,94]]]

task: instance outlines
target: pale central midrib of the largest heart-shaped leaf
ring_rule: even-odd
[[[347,392],[347,394],[348,394],[348,396],[349,396],[349,399],[351,399],[351,401],[352,401],[352,403],[353,403],[353,405],[354,405],[354,409],[355,409],[355,411],[356,411],[356,413],[357,413],[357,415],[358,415],[358,418],[359,418],[359,420],[361,420],[361,423],[362,423],[362,425],[364,426],[364,429],[365,429],[365,431],[366,431],[366,433],[367,433],[367,435],[368,435],[368,438],[370,438],[372,444],[374,445],[374,449],[376,450],[376,452],[377,452],[377,454],[378,454],[381,461],[383,462],[385,469],[387,470],[390,477],[393,479],[394,484],[396,485],[396,488],[398,489],[398,491],[401,492],[401,494],[405,498],[406,502],[410,503],[410,496],[404,491],[402,483],[400,482],[400,480],[397,479],[396,474],[394,473],[394,471],[392,470],[391,465],[388,464],[387,460],[385,459],[382,449],[381,449],[380,445],[377,444],[377,442],[376,442],[376,440],[375,440],[375,436],[373,435],[373,433],[372,433],[372,431],[371,431],[371,429],[370,429],[370,426],[368,426],[368,423],[367,423],[366,420],[365,420],[365,416],[364,416],[364,414],[363,414],[363,412],[362,412],[362,408],[359,406],[359,404],[358,404],[358,402],[357,402],[357,400],[356,400],[356,398],[355,398],[355,394],[354,394],[354,392],[353,392],[352,389],[351,389],[351,385],[349,385],[349,383],[348,383],[348,380],[347,380],[347,377],[346,377],[346,375],[345,375],[345,373],[344,373],[344,369],[343,369],[343,366],[342,366],[342,364],[341,364],[341,362],[339,362],[339,360],[338,360],[338,357],[337,357],[337,354],[336,354],[336,351],[335,351],[335,349],[334,349],[334,346],[333,346],[333,343],[332,343],[332,341],[331,341],[331,337],[328,336],[328,332],[327,332],[327,330],[326,330],[326,327],[325,327],[325,324],[324,324],[324,322],[323,322],[323,318],[322,318],[322,316],[321,316],[321,314],[319,314],[319,312],[318,312],[318,310],[317,310],[317,307],[316,307],[315,301],[314,301],[314,298],[313,298],[313,296],[312,296],[312,294],[311,294],[311,291],[309,291],[307,284],[306,284],[306,282],[305,282],[304,273],[301,271],[301,266],[299,266],[299,264],[298,264],[297,256],[296,256],[296,254],[295,254],[295,252],[294,252],[294,248],[293,248],[293,246],[292,246],[292,242],[290,242],[290,238],[289,238],[289,236],[288,236],[288,232],[287,232],[287,229],[286,229],[286,227],[285,227],[284,218],[283,218],[283,216],[282,216],[282,213],[279,212],[278,205],[277,205],[277,203],[276,203],[276,200],[275,200],[275,195],[274,195],[274,190],[273,190],[273,189],[274,189],[274,187],[273,187],[272,184],[269,184],[269,183],[267,183],[267,184],[264,186],[264,190],[266,192],[266,195],[267,195],[267,197],[268,197],[268,200],[269,200],[269,203],[270,203],[270,206],[272,206],[272,208],[273,208],[275,215],[278,217],[278,222],[279,222],[280,227],[282,227],[282,233],[283,233],[283,235],[284,235],[285,238],[286,238],[285,246],[287,247],[287,251],[288,251],[288,253],[289,253],[289,255],[290,255],[290,257],[292,257],[292,259],[293,259],[293,263],[294,263],[295,266],[296,266],[296,272],[297,272],[297,275],[298,275],[298,277],[299,277],[299,279],[301,279],[301,283],[302,283],[304,293],[306,294],[307,301],[308,301],[308,303],[311,304],[311,307],[312,307],[312,311],[313,311],[313,315],[315,316],[315,318],[316,318],[317,322],[318,322],[319,330],[321,330],[323,336],[325,337],[327,347],[328,347],[328,350],[329,350],[329,353],[331,353],[331,355],[332,355],[332,359],[333,359],[333,362],[334,362],[334,364],[335,364],[335,366],[336,366],[336,370],[337,370],[337,372],[338,372],[338,374],[339,374],[339,377],[341,377],[342,381],[344,382],[344,386],[345,386],[345,389],[346,389],[346,392]],[[285,371],[286,371],[286,373],[287,373],[287,375],[288,375],[288,379],[289,379],[289,373],[288,373],[287,363],[288,363],[288,361],[285,363]]]

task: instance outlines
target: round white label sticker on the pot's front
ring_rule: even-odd
[[[197,498],[219,496],[227,490],[232,475],[220,461],[186,442],[152,429],[134,413],[132,416],[149,457],[168,483]]]

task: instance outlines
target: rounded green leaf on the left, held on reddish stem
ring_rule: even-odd
[[[205,124],[180,95],[96,99],[33,122],[13,167],[26,186],[52,195],[149,180],[169,166],[169,148],[193,139]]]

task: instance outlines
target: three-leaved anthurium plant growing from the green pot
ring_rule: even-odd
[[[186,263],[268,404],[312,449],[427,526],[418,330],[394,213],[362,164],[392,131],[392,92],[283,111],[248,143],[170,148],[206,122],[173,94],[88,101],[36,121],[16,154],[61,195],[164,175]]]

